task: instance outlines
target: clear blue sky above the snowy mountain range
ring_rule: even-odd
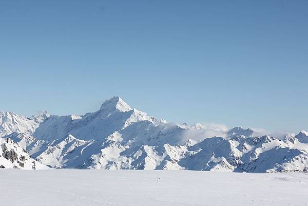
[[[120,96],[171,122],[308,130],[308,1],[0,0],[0,110]]]

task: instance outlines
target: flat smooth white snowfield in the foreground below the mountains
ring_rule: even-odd
[[[308,205],[307,173],[6,169],[0,177],[7,206]]]

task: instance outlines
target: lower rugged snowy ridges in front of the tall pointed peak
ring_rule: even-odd
[[[102,140],[74,144],[69,153],[62,141],[48,146],[36,159],[44,164],[62,168],[95,168],[107,170],[203,170],[225,172],[291,172],[306,171],[308,154],[282,140],[269,136],[236,136],[189,140],[183,145],[152,144],[138,141],[126,133],[115,132]],[[169,138],[167,138],[169,139]],[[297,141],[297,140],[296,140]],[[159,142],[159,141],[158,141]],[[51,149],[52,148],[52,149]],[[57,149],[54,149],[57,148]],[[48,160],[48,161],[47,161]],[[58,164],[54,164],[56,162]],[[63,164],[59,164],[63,162]]]

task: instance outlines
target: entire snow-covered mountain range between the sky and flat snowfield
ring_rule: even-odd
[[[235,127],[223,137],[207,137],[204,130],[201,124],[157,120],[132,109],[120,97],[83,116],[53,116],[45,111],[27,118],[0,112],[0,166],[254,173],[308,170],[305,131],[280,140],[254,137],[249,128]]]

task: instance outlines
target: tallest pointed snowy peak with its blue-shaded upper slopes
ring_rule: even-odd
[[[84,140],[97,140],[138,121],[157,122],[146,113],[131,109],[121,98],[113,97],[103,103],[100,110],[79,118],[52,116],[35,130],[33,136],[50,141],[71,134]]]

